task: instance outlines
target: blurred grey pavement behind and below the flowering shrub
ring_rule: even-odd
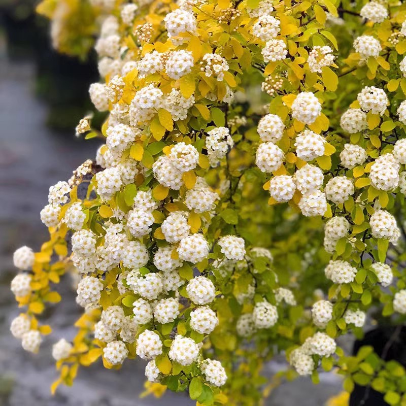
[[[165,394],[157,401],[140,399],[144,365],[127,362],[117,372],[100,365],[81,371],[73,388],[61,388],[54,397],[49,386],[56,377],[50,357],[52,343],[71,339],[70,327],[79,309],[66,281],[63,288],[71,300],[47,317],[54,331],[43,343],[39,355],[25,353],[9,332],[18,314],[9,282],[15,275],[11,256],[21,245],[34,250],[46,238],[39,212],[47,203],[48,188],[66,180],[86,158],[92,158],[97,144],[84,143],[72,134],[55,134],[44,126],[46,107],[33,97],[33,69],[30,63],[9,62],[0,44],[0,405],[3,406],[149,406],[192,405],[183,395]],[[268,367],[268,375],[278,369]],[[310,380],[283,384],[265,401],[274,406],[322,406],[341,390],[340,380],[330,374],[314,387]]]

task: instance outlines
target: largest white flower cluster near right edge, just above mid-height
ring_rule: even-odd
[[[392,154],[384,154],[372,164],[369,179],[377,189],[393,190],[399,184],[399,171],[400,165],[395,157]]]

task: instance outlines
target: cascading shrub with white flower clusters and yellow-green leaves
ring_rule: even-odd
[[[84,313],[73,343],[53,348],[53,390],[80,365],[139,356],[150,391],[254,405],[275,385],[264,363],[284,353],[292,368],[279,376],[317,383],[335,367],[347,391],[404,402],[399,363],[370,347],[347,356],[335,339],[362,336],[367,314],[396,325],[406,314],[406,6],[45,0],[39,11],[61,51],[85,52],[98,27],[89,93],[109,112],[101,131],[77,127],[105,144],[50,188],[50,240],[14,254],[27,310],[11,330],[28,351],[51,331],[38,315],[60,300],[53,286],[81,275]],[[89,21],[75,30],[78,16]]]

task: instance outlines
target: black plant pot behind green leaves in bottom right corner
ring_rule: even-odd
[[[371,346],[385,361],[395,360],[406,367],[406,326],[381,326],[365,333],[354,343],[353,354],[362,346]],[[376,390],[355,385],[350,396],[350,406],[387,406],[384,395]]]

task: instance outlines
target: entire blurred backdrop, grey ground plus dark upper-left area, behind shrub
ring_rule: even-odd
[[[82,370],[73,388],[49,387],[57,374],[51,359],[53,343],[70,340],[80,309],[68,277],[61,283],[63,300],[45,314],[53,333],[40,354],[26,353],[9,332],[18,315],[9,284],[15,275],[12,254],[22,245],[38,251],[47,239],[40,210],[49,186],[67,180],[87,158],[94,158],[99,141],[75,137],[75,126],[92,106],[90,83],[98,80],[95,56],[79,60],[50,47],[48,23],[35,15],[35,0],[0,0],[0,406],[148,406],[192,405],[184,395],[164,399],[139,398],[144,390],[145,363],[125,362],[117,373],[101,363]],[[103,121],[96,115],[95,120]],[[94,123],[94,120],[93,120]],[[282,358],[281,358],[282,362]],[[272,376],[281,365],[271,363]],[[322,406],[339,393],[341,380],[321,374],[321,384],[308,379],[283,383],[265,400],[267,405]]]

